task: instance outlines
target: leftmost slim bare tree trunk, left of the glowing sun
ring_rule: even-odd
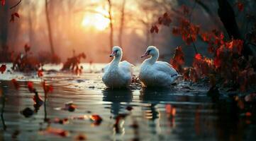
[[[50,50],[52,52],[52,56],[55,54],[55,50],[53,47],[53,42],[52,42],[52,29],[50,26],[50,17],[49,17],[49,11],[48,11],[48,0],[45,0],[45,15],[46,15],[46,22],[48,25],[48,37],[49,37],[49,42],[50,42]]]

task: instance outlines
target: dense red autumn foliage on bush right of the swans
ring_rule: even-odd
[[[238,11],[243,11],[243,3],[238,2]],[[189,20],[190,11],[187,6],[182,6],[182,16],[172,16],[164,13],[152,25],[150,32],[158,32],[161,25],[171,27],[174,36],[180,36],[187,45],[193,45],[196,52],[191,67],[184,67],[184,56],[182,47],[177,47],[171,59],[172,66],[184,76],[184,80],[197,82],[201,78],[209,80],[212,87],[235,87],[240,91],[250,90],[256,86],[255,56],[246,59],[243,56],[245,40],[228,39],[223,32],[212,30],[201,31],[199,25],[194,25]],[[170,17],[173,19],[171,20]],[[170,24],[175,21],[177,25]],[[157,30],[156,30],[157,29]],[[254,39],[250,36],[250,39]],[[200,54],[194,42],[201,40],[208,44],[208,52],[213,57],[208,58]],[[256,38],[255,38],[256,39]]]

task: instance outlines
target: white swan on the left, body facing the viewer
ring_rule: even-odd
[[[121,47],[113,47],[110,57],[112,56],[113,60],[111,61],[111,63],[108,63],[108,65],[104,68],[104,75],[102,77],[102,81],[104,82],[106,87],[128,87],[133,76],[133,65],[131,63],[128,63],[128,61],[121,61],[123,56],[123,51]]]

